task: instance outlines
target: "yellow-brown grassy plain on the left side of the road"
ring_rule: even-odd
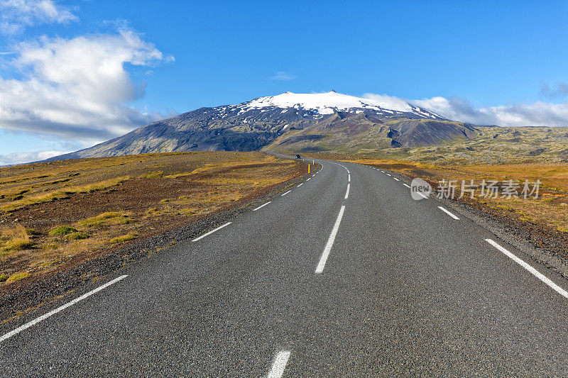
[[[182,226],[305,172],[261,152],[182,152],[0,169],[0,288]]]

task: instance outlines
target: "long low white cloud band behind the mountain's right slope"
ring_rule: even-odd
[[[497,126],[568,126],[568,102],[554,104],[536,101],[532,104],[511,104],[476,108],[469,101],[442,96],[430,99],[407,100],[398,97],[364,94],[368,99],[390,99],[393,104],[408,102],[434,111],[441,116],[476,125]]]

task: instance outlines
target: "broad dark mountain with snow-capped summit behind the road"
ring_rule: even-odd
[[[50,160],[192,150],[359,152],[439,145],[477,134],[474,126],[405,102],[286,92],[196,109]]]

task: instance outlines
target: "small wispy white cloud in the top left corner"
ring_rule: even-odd
[[[0,32],[4,34],[18,34],[42,23],[70,21],[77,21],[77,16],[52,0],[0,0]]]

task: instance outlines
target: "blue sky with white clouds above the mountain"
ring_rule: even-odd
[[[0,164],[284,91],[568,126],[567,1],[18,4],[0,0]]]

